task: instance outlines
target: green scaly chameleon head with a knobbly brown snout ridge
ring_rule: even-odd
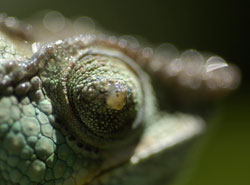
[[[0,15],[1,185],[170,184],[206,121],[165,105],[206,104],[240,83],[216,55],[89,23]]]

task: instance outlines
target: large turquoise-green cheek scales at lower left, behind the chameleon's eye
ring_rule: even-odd
[[[76,184],[88,176],[91,159],[73,152],[53,128],[49,102],[4,97],[0,112],[1,184]]]

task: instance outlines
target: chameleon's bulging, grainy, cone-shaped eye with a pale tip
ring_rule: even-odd
[[[48,46],[39,74],[62,125],[83,143],[109,148],[141,128],[145,74],[122,52],[88,39]]]

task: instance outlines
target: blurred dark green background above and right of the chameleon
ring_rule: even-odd
[[[238,91],[218,102],[207,132],[176,185],[250,184],[250,78],[248,2],[233,0],[0,0],[0,12],[19,18],[39,10],[67,17],[89,16],[119,34],[139,35],[153,44],[211,51],[243,72]]]

